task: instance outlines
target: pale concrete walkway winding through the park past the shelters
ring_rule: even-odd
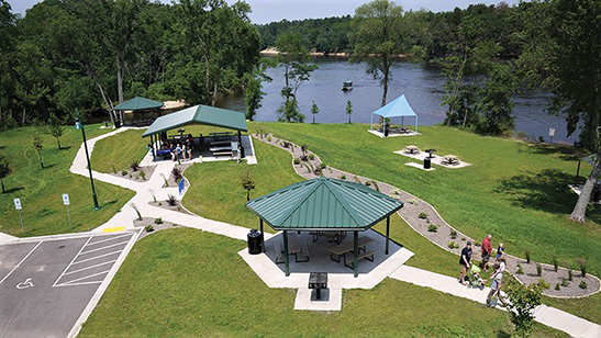
[[[112,135],[115,135],[116,133],[121,133],[126,129],[127,128],[121,128],[119,131],[114,131],[112,133],[88,140],[88,147],[90,149],[90,153],[92,151],[93,145],[97,140],[104,137],[110,137]],[[149,161],[145,160],[143,162]],[[111,219],[109,219],[107,223],[99,226],[92,232],[103,232],[115,227],[133,228],[133,221],[137,218],[137,214],[135,213],[133,207],[130,207],[129,205],[135,204],[140,210],[142,216],[144,217],[162,217],[165,221],[182,226],[220,234],[235,239],[246,239],[248,228],[208,219],[198,215],[189,215],[149,205],[148,202],[154,201],[153,194],[155,194],[157,200],[164,200],[167,196],[167,193],[172,193],[172,188],[163,188],[164,180],[160,173],[168,176],[172,170],[175,164],[170,161],[164,161],[151,165],[154,165],[157,168],[153,172],[149,180],[144,183],[133,182],[119,177],[102,174],[100,172],[93,172],[96,179],[131,189],[135,191],[136,194],[126,203],[126,205],[122,209],[120,213],[115,214]],[[88,177],[82,146],[80,147],[74,160],[70,171],[77,174]],[[299,174],[301,173],[299,172]],[[303,174],[301,176],[304,177]],[[270,238],[271,236],[274,235],[265,234],[266,239]],[[2,240],[2,237],[0,237],[0,240]],[[467,297],[479,303],[482,303],[483,297],[486,297],[486,294],[488,294],[487,289],[485,289],[483,291],[470,290],[461,292],[460,290],[466,289],[465,286],[461,288],[463,285],[459,285],[455,278],[407,266],[402,266],[401,268],[391,272],[389,277],[397,280],[414,283],[416,285],[432,288],[449,294]],[[535,315],[538,323],[566,331],[570,336],[601,337],[601,326],[570,315],[566,312],[543,305],[536,309]]]

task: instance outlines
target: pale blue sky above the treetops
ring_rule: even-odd
[[[165,3],[170,3],[170,0],[160,0]],[[9,0],[13,12],[25,14],[40,0]],[[233,2],[233,0],[227,0]],[[353,14],[355,9],[368,0],[246,0],[253,8],[251,20],[254,23],[267,23],[271,21],[280,21],[282,19],[297,20],[307,18],[325,18],[341,16]],[[470,3],[487,3],[496,4],[500,0],[402,0],[397,1],[403,5],[405,10],[419,10],[421,8],[429,9],[434,12],[449,11],[456,7],[466,8]],[[509,4],[517,3],[519,0],[507,0]]]

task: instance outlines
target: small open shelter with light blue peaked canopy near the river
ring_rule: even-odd
[[[382,126],[381,128],[374,129],[374,115],[381,116]],[[387,119],[401,117],[400,127],[390,127],[387,122]],[[415,119],[415,129],[411,131],[404,127],[404,117]],[[388,136],[400,136],[400,135],[418,135],[418,114],[413,111],[409,102],[407,101],[404,94],[394,99],[387,105],[380,108],[379,110],[371,113],[371,128],[372,134],[380,137]]]

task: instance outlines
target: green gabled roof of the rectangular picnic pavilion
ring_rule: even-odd
[[[234,131],[248,131],[244,113],[199,104],[156,119],[142,137],[188,124],[205,124]]]

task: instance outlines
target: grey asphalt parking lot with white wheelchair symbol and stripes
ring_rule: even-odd
[[[0,246],[0,337],[67,337],[133,233]]]

